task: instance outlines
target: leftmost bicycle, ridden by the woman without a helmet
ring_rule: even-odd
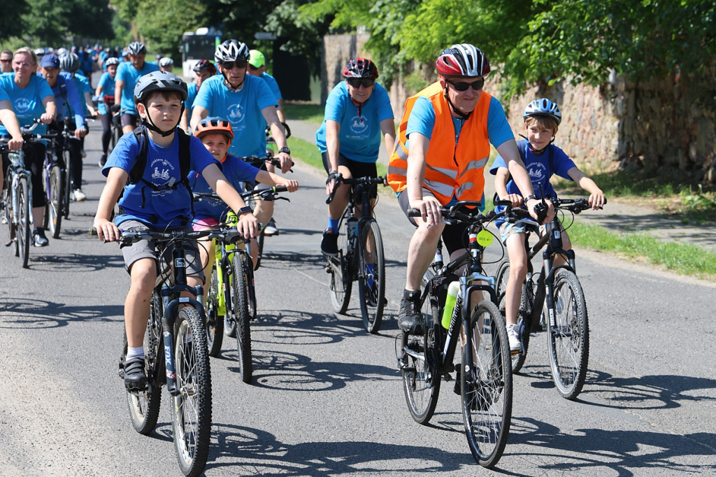
[[[39,120],[29,127],[21,127],[22,138],[27,142],[52,138],[52,135],[33,134]],[[9,138],[0,139],[0,150],[7,153],[10,164],[7,168],[6,186],[2,191],[4,206],[2,222],[8,224],[7,246],[14,244],[15,256],[20,257],[22,268],[28,268],[31,231],[34,228],[32,215],[32,173],[25,168],[24,150],[9,150]]]

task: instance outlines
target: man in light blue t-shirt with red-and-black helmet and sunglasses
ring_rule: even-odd
[[[328,173],[326,194],[336,187],[338,175],[344,178],[377,177],[381,136],[388,155],[395,145],[393,110],[385,88],[375,82],[378,69],[366,58],[356,58],[343,69],[344,82],[331,90],[326,112],[316,132],[316,145],[323,155]],[[328,226],[323,233],[321,251],[329,256],[338,254],[338,221],[348,204],[351,186],[340,184],[328,206]],[[371,200],[376,188],[370,192]]]

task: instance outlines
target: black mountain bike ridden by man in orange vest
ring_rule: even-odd
[[[395,351],[410,415],[417,423],[426,424],[435,412],[440,382],[443,378],[450,381],[450,372],[455,371],[453,357],[459,337],[462,366],[458,374],[465,434],[475,461],[492,467],[500,460],[510,431],[512,370],[507,330],[496,305],[495,279],[487,276],[481,265],[483,250],[493,240],[485,226],[498,216],[483,216],[479,206],[479,202],[460,201],[441,208],[448,223],[468,224],[468,250],[443,265],[438,245],[438,260],[422,280],[419,309],[425,302],[430,307],[428,314],[421,315],[425,321],[423,333],[401,332],[396,337]],[[420,211],[408,213],[420,216]],[[463,273],[458,277],[460,269]],[[459,291],[454,309],[447,310],[450,322],[445,328],[448,315],[444,319],[443,308],[451,281],[458,281]],[[488,294],[489,299],[475,304],[475,291]]]

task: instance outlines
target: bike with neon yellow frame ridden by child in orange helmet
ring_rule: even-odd
[[[279,198],[276,196],[278,193],[286,191],[285,187],[276,186],[248,191],[241,197],[246,201],[251,197],[273,201]],[[194,193],[193,196],[195,201],[218,201],[223,204],[221,198],[213,193]],[[216,236],[215,259],[206,297],[206,337],[209,354],[214,357],[221,352],[224,332],[229,337],[236,337],[241,380],[251,382],[253,365],[249,322],[256,319],[256,288],[249,250],[251,241],[236,237],[236,223],[236,214],[229,210],[226,224],[218,226],[220,229],[228,227],[232,234],[227,232]],[[243,242],[244,246],[238,246],[239,242]]]

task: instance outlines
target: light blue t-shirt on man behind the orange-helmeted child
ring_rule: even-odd
[[[246,74],[241,90],[231,91],[221,75],[201,83],[194,106],[208,110],[209,116],[224,117],[231,122],[233,140],[228,152],[247,156],[266,154],[266,120],[261,110],[278,106],[269,85],[260,78]]]

